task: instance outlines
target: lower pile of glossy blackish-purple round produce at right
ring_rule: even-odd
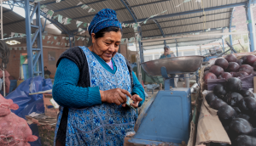
[[[256,98],[249,91],[241,89],[239,78],[230,77],[225,86],[216,85],[213,93],[207,94],[206,101],[212,109],[218,110],[218,118],[228,133],[232,146],[256,145]]]

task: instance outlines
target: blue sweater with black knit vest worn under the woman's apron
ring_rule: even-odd
[[[113,70],[99,56],[94,54],[101,65],[110,72],[116,71],[116,66],[113,62]],[[131,65],[127,63],[131,75],[132,95],[137,94],[143,101],[145,93],[143,86],[137,80],[134,72],[131,71]],[[99,87],[90,87],[90,74],[88,63],[83,50],[79,47],[69,48],[61,54],[57,61],[57,70],[55,74],[55,83],[53,86],[53,98],[55,101],[64,107],[61,117],[61,123],[57,132],[57,140],[65,145],[67,132],[67,108],[85,108],[96,104],[102,104]]]

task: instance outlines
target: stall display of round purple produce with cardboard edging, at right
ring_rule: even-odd
[[[254,144],[255,61],[255,53],[236,53],[202,68],[196,144]]]

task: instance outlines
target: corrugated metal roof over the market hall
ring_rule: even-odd
[[[247,2],[247,0],[205,0],[204,3],[195,3],[194,0],[191,0],[188,3],[183,3],[183,0],[126,0],[131,9],[137,16],[137,19],[146,19],[154,14],[159,14],[165,10],[166,13],[160,14],[177,14],[185,11],[191,11],[201,8],[212,8],[217,6],[222,6],[225,4],[231,3],[241,3]],[[50,3],[53,2],[53,3]],[[112,8],[116,10],[118,14],[118,19],[121,22],[133,20],[130,12],[127,10],[125,5],[121,2],[121,0],[83,0],[83,1],[74,1],[74,0],[65,0],[61,1],[61,3],[54,3],[55,0],[42,1],[41,4],[47,4],[47,8],[52,9],[56,14],[61,14],[63,17],[68,17],[73,19],[72,23],[69,25],[65,25],[67,30],[76,31],[77,28],[76,20],[80,20],[86,23],[90,23],[93,19],[94,14],[100,11],[102,8]],[[83,9],[81,6],[77,6],[79,2],[84,4],[88,4],[91,8],[94,8],[96,12],[88,12],[88,9]],[[179,7],[177,7],[179,5]],[[217,27],[227,27],[230,25],[230,9],[231,8],[223,8],[213,11],[207,11],[206,21],[207,23],[204,25],[205,17],[202,16],[202,13],[196,14],[185,14],[185,15],[177,15],[175,17],[169,17],[165,19],[158,20],[160,27],[163,30],[165,35],[172,35],[176,33],[183,33],[189,31],[201,31],[208,28],[217,28]],[[4,9],[7,10],[7,9]],[[20,15],[15,14],[14,12],[8,12],[3,14],[3,25],[9,24],[12,22],[17,22],[19,20],[24,20]],[[181,20],[182,19],[182,20]],[[57,26],[57,25],[56,25]],[[58,27],[58,26],[57,26]],[[84,28],[83,25],[79,26],[80,28]],[[60,27],[58,27],[60,29]],[[25,22],[17,22],[12,25],[4,25],[4,31],[10,33],[12,31],[24,33],[25,32]],[[61,30],[61,29],[60,29]],[[62,30],[61,30],[62,31]],[[148,20],[147,24],[142,25],[142,34],[143,37],[150,36],[162,36],[160,28],[158,25],[154,23],[153,20]],[[216,33],[216,31],[214,31]],[[211,32],[207,32],[211,33]],[[134,32],[132,28],[123,28],[123,37],[130,38],[134,36]],[[216,39],[218,36],[207,36],[207,39]],[[219,37],[218,37],[219,38]],[[192,39],[191,39],[192,40]],[[201,38],[193,37],[193,41],[201,40]],[[177,39],[178,42],[186,41],[186,39]],[[170,42],[170,41],[167,41]],[[163,42],[150,42],[154,44],[162,44]],[[150,44],[147,43],[147,44]],[[172,41],[170,42],[172,43]],[[144,43],[145,44],[145,43]]]

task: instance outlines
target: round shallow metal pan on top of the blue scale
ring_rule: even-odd
[[[195,72],[202,64],[204,56],[182,56],[155,59],[141,65],[150,76],[161,76],[161,67],[165,66],[168,74],[186,74]]]

